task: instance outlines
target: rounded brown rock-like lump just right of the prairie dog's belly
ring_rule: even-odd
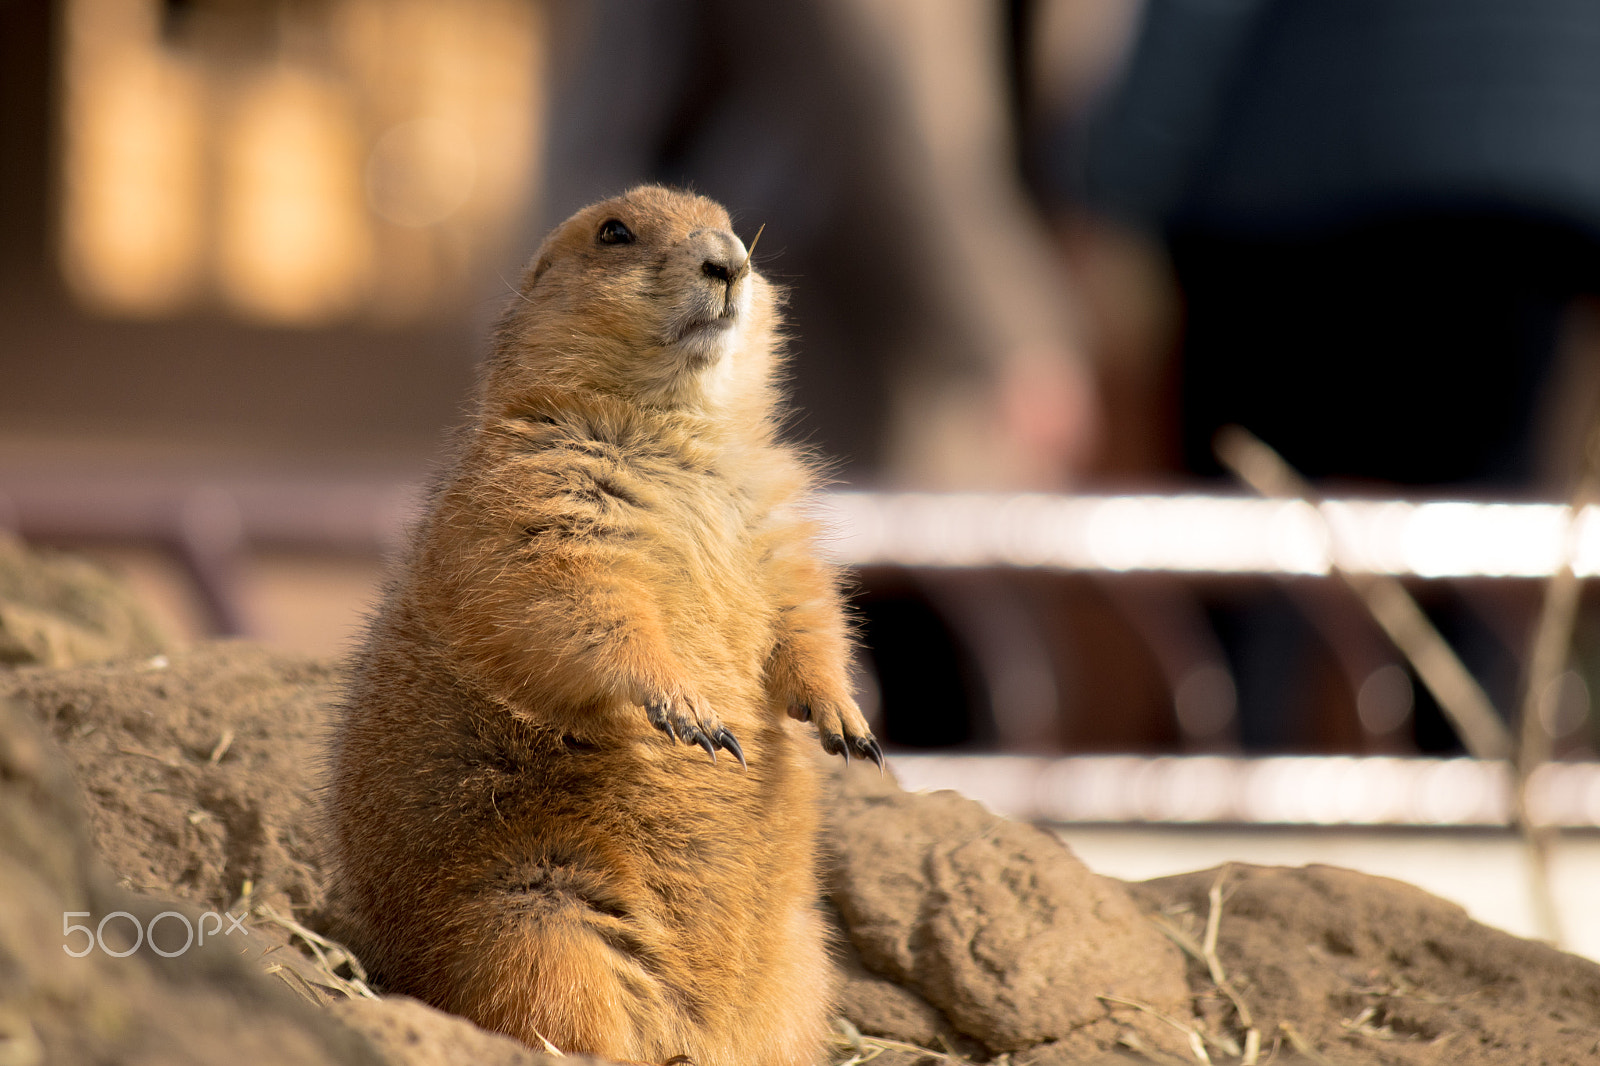
[[[1174,1044],[1152,1012],[1189,1018],[1182,956],[1123,884],[955,792],[904,792],[864,767],[843,779],[832,900],[867,968],[989,1052],[1106,1048],[1126,1029]]]

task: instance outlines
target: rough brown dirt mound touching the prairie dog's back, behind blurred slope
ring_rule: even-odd
[[[334,687],[331,664],[248,643],[0,675],[70,754],[122,887],[221,911],[248,885],[285,914],[322,903],[315,791]]]

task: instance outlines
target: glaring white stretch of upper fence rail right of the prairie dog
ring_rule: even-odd
[[[1544,578],[1568,507],[1546,503],[834,493],[832,551],[854,565],[1078,571]],[[1600,507],[1578,517],[1574,571],[1600,573]],[[1330,527],[1336,536],[1330,536]],[[1330,543],[1330,541],[1336,541]],[[1338,552],[1338,555],[1336,555]]]

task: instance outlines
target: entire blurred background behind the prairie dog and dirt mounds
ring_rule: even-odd
[[[115,567],[184,639],[342,653],[522,262],[638,181],[765,226],[789,432],[842,493],[862,703],[907,781],[1070,826],[1107,872],[1331,856],[1534,932],[1506,776],[1458,760],[1326,544],[1141,546],[1267,536],[1216,525],[1248,495],[1229,424],[1333,498],[1573,498],[1592,0],[0,0],[0,528]],[[925,551],[973,514],[1115,535]],[[1600,608],[1584,584],[1525,699],[1565,512],[1474,563],[1496,514],[1370,549],[1506,728],[1536,709],[1582,900]]]

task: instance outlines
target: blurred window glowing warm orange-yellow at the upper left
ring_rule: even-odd
[[[66,0],[59,253],[75,296],[328,325],[446,312],[533,197],[525,0]]]

